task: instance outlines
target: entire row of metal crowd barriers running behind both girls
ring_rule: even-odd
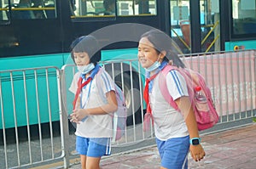
[[[220,125],[256,117],[255,50],[189,54],[182,56],[187,67],[205,76],[211,88]],[[143,132],[144,72],[137,59],[102,62],[114,81],[124,89],[129,123],[125,136],[113,148],[125,151],[154,138],[154,128]],[[42,166],[69,161],[75,152],[75,136],[68,114],[73,93],[68,87],[74,65],[0,71],[0,168]],[[13,133],[13,134],[12,134]],[[122,149],[122,148],[126,149]]]

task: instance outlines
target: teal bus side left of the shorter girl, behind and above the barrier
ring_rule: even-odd
[[[28,123],[32,125],[49,122],[49,118],[51,121],[59,121],[57,68],[42,66],[55,65],[61,68],[68,55],[0,59],[0,87],[3,100],[3,104],[0,105],[0,129],[3,128],[3,121],[5,128],[15,127],[15,117],[17,127],[26,126]],[[37,68],[31,69],[32,67]],[[21,68],[30,69],[16,70]]]

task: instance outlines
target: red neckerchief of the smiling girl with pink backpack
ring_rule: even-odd
[[[150,122],[150,119],[152,120],[152,126],[154,125],[154,121],[153,121],[153,116],[152,116],[152,110],[151,110],[151,107],[150,107],[150,104],[149,104],[149,93],[148,93],[148,85],[149,85],[149,82],[152,81],[154,79],[155,76],[157,76],[158,73],[154,74],[154,76],[151,76],[149,78],[146,79],[146,85],[145,85],[145,89],[144,89],[144,93],[143,93],[143,98],[145,99],[146,101],[146,104],[147,104],[147,113],[146,115],[144,116],[144,131],[148,131],[149,129],[149,122]]]

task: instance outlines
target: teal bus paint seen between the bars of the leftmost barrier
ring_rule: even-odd
[[[0,71],[4,128],[59,121],[56,68]],[[3,110],[3,112],[2,112]],[[8,117],[8,118],[7,118]],[[3,128],[3,122],[0,123]]]

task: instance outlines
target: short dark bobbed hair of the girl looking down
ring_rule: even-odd
[[[90,63],[97,64],[102,59],[98,42],[93,36],[82,36],[76,38],[70,45],[71,57],[74,61],[73,53],[87,53],[90,57]]]

